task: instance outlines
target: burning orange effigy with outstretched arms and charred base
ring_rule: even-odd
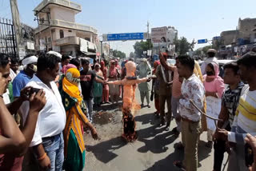
[[[126,141],[135,141],[137,133],[135,131],[136,122],[134,113],[140,109],[135,101],[135,90],[141,82],[150,82],[151,78],[137,78],[135,76],[136,64],[134,62],[126,62],[126,77],[119,81],[107,82],[108,84],[123,85],[123,104],[122,104],[122,137]]]

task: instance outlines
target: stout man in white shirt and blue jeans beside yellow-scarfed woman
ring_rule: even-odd
[[[61,58],[54,54],[42,54],[38,58],[38,71],[26,86],[43,89],[46,105],[40,111],[34,137],[30,143],[42,169],[61,171],[64,161],[62,130],[66,125],[66,112],[54,79],[58,75]],[[22,105],[22,117],[30,109],[29,103]]]

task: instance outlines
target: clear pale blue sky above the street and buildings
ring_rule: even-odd
[[[42,0],[18,0],[22,22],[37,26],[34,7]],[[189,41],[211,39],[223,30],[234,30],[238,18],[256,18],[255,0],[73,0],[82,5],[76,22],[94,26],[98,34],[146,32],[174,26]],[[11,18],[9,0],[0,0],[0,17]],[[111,48],[129,54],[134,41],[110,42]],[[203,45],[205,46],[205,45]],[[198,48],[200,46],[196,46]]]

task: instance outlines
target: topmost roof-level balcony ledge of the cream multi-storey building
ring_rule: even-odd
[[[78,12],[82,11],[82,6],[80,6],[78,3],[70,2],[70,0],[43,0],[35,9],[35,14],[37,12],[42,11],[46,6],[53,4],[57,6],[63,6],[72,10],[76,10]]]

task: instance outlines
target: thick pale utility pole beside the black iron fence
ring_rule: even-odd
[[[15,36],[16,36],[16,47],[17,47],[17,54],[19,56],[19,50],[22,46],[22,38],[20,37],[22,35],[22,28],[21,23],[19,21],[19,12],[18,12],[18,3],[17,0],[10,0],[10,9],[11,14],[13,17],[13,24],[14,24],[14,30],[15,30]]]

